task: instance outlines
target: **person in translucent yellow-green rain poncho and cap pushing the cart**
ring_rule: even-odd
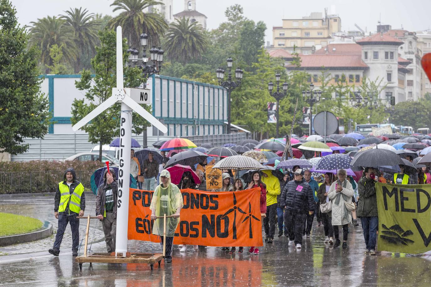
[[[163,218],[156,217],[173,215],[166,218],[166,253],[165,261],[172,262],[172,245],[174,241],[175,229],[180,222],[180,211],[183,207],[183,197],[178,187],[171,183],[171,174],[167,170],[160,173],[160,184],[154,190],[151,199],[151,219],[155,220],[153,225],[153,235],[160,235],[163,246]]]

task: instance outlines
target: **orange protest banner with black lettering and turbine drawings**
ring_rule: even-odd
[[[150,219],[153,192],[130,188],[128,239],[160,242],[151,232],[157,228]],[[174,244],[263,245],[259,188],[235,192],[182,189],[181,193],[184,207]]]

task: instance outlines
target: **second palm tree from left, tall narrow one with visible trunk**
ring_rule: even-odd
[[[78,56],[74,65],[75,73],[81,70],[81,59],[87,55],[90,58],[94,56],[94,49],[99,43],[97,31],[100,28],[100,21],[97,21],[97,15],[88,13],[87,9],[82,11],[82,7],[65,11],[67,15],[60,15],[61,19],[66,21],[66,25],[72,28],[75,34],[75,43],[78,46]],[[87,14],[88,13],[88,14]]]

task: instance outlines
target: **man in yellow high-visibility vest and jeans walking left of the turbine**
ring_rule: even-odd
[[[76,216],[83,216],[85,210],[84,186],[76,180],[75,170],[69,167],[64,173],[63,181],[57,185],[54,200],[54,216],[58,219],[58,229],[54,246],[49,253],[58,256],[60,244],[64,231],[69,223],[72,229],[72,256],[78,255],[79,246],[79,219]]]

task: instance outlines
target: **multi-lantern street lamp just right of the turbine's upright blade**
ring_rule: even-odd
[[[138,61],[142,61],[142,65],[138,65],[137,67],[142,70],[142,74],[146,78],[151,77],[153,74],[159,74],[160,69],[162,68],[163,62],[163,54],[164,51],[161,47],[159,49],[156,46],[150,49],[150,58],[147,58],[147,44],[148,44],[148,35],[146,33],[142,33],[140,36],[141,46],[142,46],[142,58],[139,58],[139,51],[136,48],[129,48],[127,52],[129,52],[129,65],[135,67]],[[149,62],[151,61],[151,62]],[[147,83],[144,83],[144,88]]]

